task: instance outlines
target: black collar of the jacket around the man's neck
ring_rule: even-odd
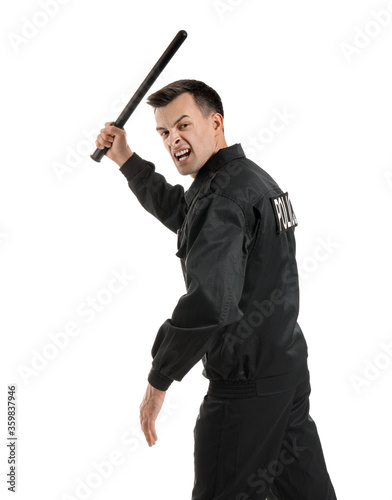
[[[245,153],[241,144],[234,144],[227,148],[220,149],[215,155],[211,156],[209,160],[201,167],[197,173],[195,180],[190,185],[188,191],[185,192],[185,201],[188,206],[196,194],[200,191],[203,184],[210,179],[213,174],[225,163],[228,163],[235,158],[244,157]]]

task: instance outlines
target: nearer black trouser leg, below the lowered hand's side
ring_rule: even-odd
[[[194,429],[192,500],[265,500],[294,393],[295,388],[247,399],[204,397]]]

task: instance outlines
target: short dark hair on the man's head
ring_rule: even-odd
[[[202,112],[207,118],[210,113],[223,115],[223,104],[218,93],[204,82],[199,80],[177,80],[169,83],[166,87],[151,94],[147,98],[147,104],[153,108],[161,108],[170,104],[176,97],[189,92]]]

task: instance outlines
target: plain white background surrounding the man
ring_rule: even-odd
[[[137,434],[151,346],[185,293],[176,235],[138,204],[114,163],[89,158],[95,146],[84,133],[117,118],[185,29],[151,92],[180,78],[214,87],[227,142],[242,143],[289,191],[311,415],[328,470],[339,500],[391,498],[392,354],[381,343],[392,344],[392,22],[374,17],[391,2],[20,0],[5,9],[1,494],[7,385],[15,383],[19,498],[190,499],[193,427],[208,385],[201,362],[169,388],[157,445]],[[274,110],[290,122],[264,149],[251,147]],[[126,131],[169,182],[190,185],[145,100]],[[113,270],[132,279],[110,298]],[[107,302],[93,318],[88,297]],[[50,334],[71,322],[79,334],[50,351]],[[94,463],[115,452],[116,465],[98,475]]]

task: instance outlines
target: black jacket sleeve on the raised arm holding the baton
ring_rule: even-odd
[[[163,175],[155,172],[153,163],[143,160],[136,153],[121,166],[120,172],[141,205],[176,233],[185,218],[183,186],[169,184]]]

